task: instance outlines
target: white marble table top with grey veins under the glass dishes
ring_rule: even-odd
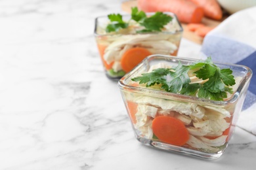
[[[0,169],[254,169],[256,137],[239,127],[211,161],[135,139],[93,37],[111,12],[121,1],[0,1]],[[182,39],[179,56],[199,53]]]

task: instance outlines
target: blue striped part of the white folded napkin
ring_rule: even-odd
[[[255,30],[256,31],[256,30]],[[256,41],[256,40],[255,40]],[[211,34],[206,36],[202,52],[211,56],[213,61],[221,63],[236,63],[252,69],[253,76],[245,97],[243,110],[256,103],[256,49],[242,42],[234,41],[223,36]]]

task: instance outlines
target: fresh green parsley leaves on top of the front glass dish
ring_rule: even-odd
[[[208,80],[203,84],[190,83],[188,71],[194,71],[196,77]],[[211,61],[211,58],[192,65],[182,65],[179,61],[176,67],[155,69],[151,73],[143,73],[142,76],[132,80],[139,84],[146,84],[146,87],[161,84],[161,88],[167,92],[198,95],[214,101],[223,101],[223,98],[227,97],[226,92],[233,93],[230,86],[236,84],[232,70],[220,69]]]

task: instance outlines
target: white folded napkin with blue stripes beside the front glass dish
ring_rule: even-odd
[[[253,70],[237,126],[256,135],[256,7],[229,16],[205,36],[201,50],[213,61],[246,65]]]

